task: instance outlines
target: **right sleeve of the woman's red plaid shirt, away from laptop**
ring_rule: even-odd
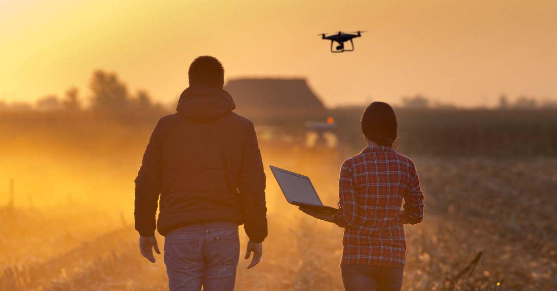
[[[402,223],[417,224],[423,219],[424,195],[419,187],[418,172],[414,164],[411,168],[411,184],[408,192],[404,195],[402,205]]]

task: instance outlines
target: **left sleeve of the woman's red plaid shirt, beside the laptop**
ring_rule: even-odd
[[[354,226],[358,216],[358,203],[349,164],[349,160],[346,160],[340,169],[339,212],[335,216],[335,223],[343,228]]]

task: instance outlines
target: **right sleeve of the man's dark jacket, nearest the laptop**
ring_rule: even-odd
[[[252,242],[261,243],[267,237],[265,173],[253,123],[250,122],[247,131],[242,148],[238,192],[242,200],[246,234]]]

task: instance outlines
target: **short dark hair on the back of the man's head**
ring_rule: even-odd
[[[201,56],[189,65],[189,86],[209,86],[221,88],[224,86],[224,68],[217,58]]]

